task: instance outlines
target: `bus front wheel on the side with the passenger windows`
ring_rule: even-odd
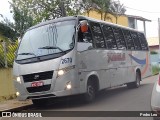
[[[92,81],[89,81],[87,84],[87,92],[85,93],[85,101],[87,103],[92,102],[96,96],[95,85]]]

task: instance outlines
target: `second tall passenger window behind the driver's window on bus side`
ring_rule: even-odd
[[[106,41],[106,46],[108,47],[108,49],[117,49],[117,44],[116,44],[116,40],[112,31],[112,28],[110,26],[107,25],[102,25],[102,29],[104,32],[104,38]]]

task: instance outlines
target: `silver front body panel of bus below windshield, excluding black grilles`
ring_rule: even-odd
[[[63,61],[66,58],[71,58],[71,62]],[[20,77],[22,83],[18,83],[17,81],[14,81],[14,84],[16,86],[16,90],[20,92],[21,96],[18,98],[20,100],[25,100],[27,97],[31,96],[41,96],[45,94],[53,94],[56,96],[67,96],[67,95],[73,95],[79,93],[79,81],[77,80],[77,68],[71,69],[70,71],[67,71],[63,76],[59,76],[57,78],[57,72],[59,69],[67,68],[69,66],[75,66],[75,51],[72,50],[68,54],[64,55],[63,57],[43,61],[43,62],[37,62],[37,63],[29,63],[29,64],[23,64],[19,65],[16,62],[14,63],[14,76]],[[32,82],[24,82],[23,76],[24,75],[30,75],[30,74],[39,74],[41,72],[45,71],[53,71],[53,77],[48,80],[37,80],[42,81],[44,85],[51,84],[51,88],[49,91],[41,91],[41,92],[31,92],[29,93],[27,91],[28,87],[31,87]],[[66,84],[68,82],[71,82],[72,89],[66,90]]]

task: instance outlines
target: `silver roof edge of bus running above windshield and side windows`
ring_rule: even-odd
[[[129,27],[125,27],[125,26],[122,26],[122,25],[118,25],[118,24],[114,24],[114,23],[110,23],[110,22],[106,22],[106,21],[103,21],[103,20],[98,20],[98,19],[94,19],[94,18],[90,18],[90,17],[86,17],[86,16],[81,16],[81,15],[61,17],[61,18],[57,18],[57,19],[53,19],[53,20],[48,20],[48,21],[39,23],[39,24],[37,24],[35,26],[32,26],[28,30],[34,29],[36,27],[40,27],[40,26],[43,26],[43,25],[46,25],[46,24],[50,24],[50,23],[53,23],[53,22],[67,21],[67,20],[76,20],[76,19],[86,19],[86,20],[90,20],[90,21],[94,21],[94,22],[98,22],[98,23],[108,24],[108,25],[115,26],[115,27],[121,27],[121,28],[128,29],[128,30],[135,31],[135,32],[144,33],[142,31],[138,31],[138,30],[135,30],[135,29],[132,29],[132,28],[129,28]]]

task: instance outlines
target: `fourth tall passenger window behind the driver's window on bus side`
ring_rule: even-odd
[[[127,43],[127,46],[128,46],[128,49],[129,50],[134,50],[134,42],[132,40],[132,37],[130,35],[130,32],[128,30],[124,30],[123,29],[123,34],[124,34],[124,37],[126,39],[126,43]]]

